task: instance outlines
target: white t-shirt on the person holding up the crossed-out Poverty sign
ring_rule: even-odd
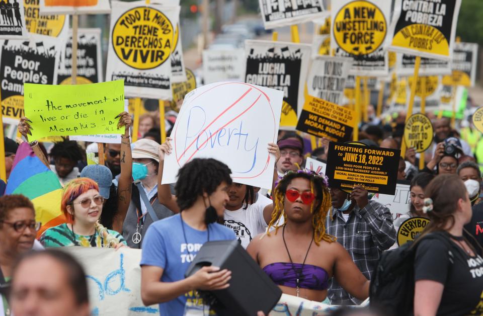
[[[270,203],[272,203],[272,200],[264,199],[263,196],[259,195],[257,202],[250,204],[247,209],[243,207],[236,211],[225,209],[224,225],[233,229],[236,239],[244,249],[247,249],[248,244],[256,235],[265,232],[268,225],[263,217],[263,209]]]

